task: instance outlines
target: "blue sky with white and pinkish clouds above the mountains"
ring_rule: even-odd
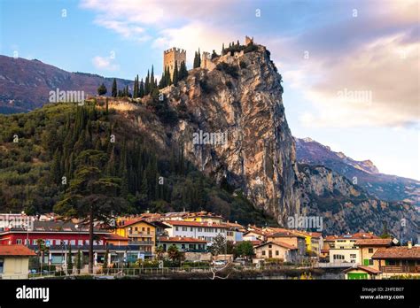
[[[2,0],[0,54],[133,80],[170,47],[267,46],[286,119],[381,173],[420,180],[418,1]]]

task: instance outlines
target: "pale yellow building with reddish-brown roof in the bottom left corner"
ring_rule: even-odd
[[[0,245],[0,279],[27,279],[33,250],[23,245]]]

